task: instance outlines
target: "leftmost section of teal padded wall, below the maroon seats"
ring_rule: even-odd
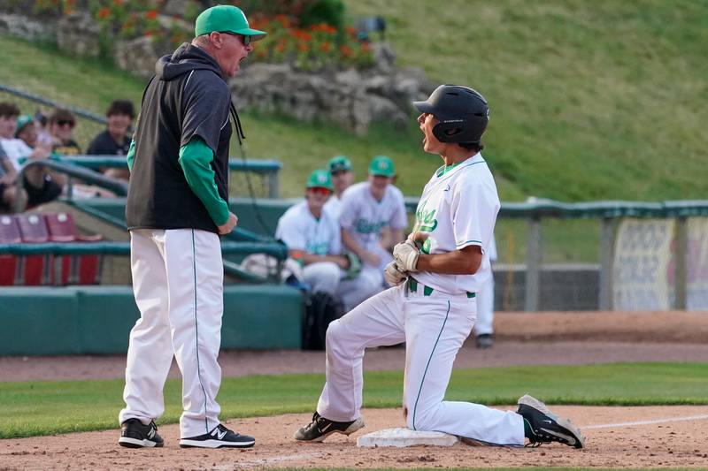
[[[80,353],[77,304],[72,289],[0,289],[0,354]]]

